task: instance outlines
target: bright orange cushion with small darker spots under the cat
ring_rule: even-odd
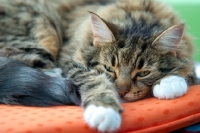
[[[122,132],[169,132],[200,122],[200,85],[174,100],[144,99],[124,103]],[[77,106],[0,105],[0,133],[94,133]]]

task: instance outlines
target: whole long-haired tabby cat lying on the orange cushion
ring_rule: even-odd
[[[120,99],[173,99],[196,82],[191,38],[165,4],[0,3],[0,103],[81,104],[91,128],[114,132],[121,124]]]

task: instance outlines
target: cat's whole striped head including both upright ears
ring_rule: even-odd
[[[152,94],[152,86],[181,63],[176,50],[183,37],[183,24],[149,36],[139,33],[125,36],[124,31],[116,31],[94,13],[91,22],[93,45],[100,51],[96,68],[112,77],[126,101]]]

